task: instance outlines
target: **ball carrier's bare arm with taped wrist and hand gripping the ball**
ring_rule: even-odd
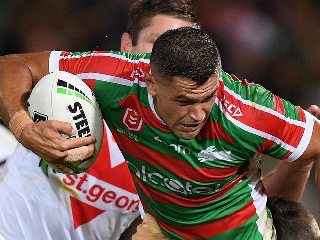
[[[15,119],[12,125],[17,127],[11,130],[24,147],[55,164],[62,172],[72,173],[64,164],[68,150],[83,146],[92,154],[95,138],[64,139],[61,133],[71,136],[74,131],[70,123],[57,120],[33,123],[29,115],[22,112],[27,110],[32,86],[49,73],[49,56],[50,52],[42,52],[0,57],[0,115],[8,125]]]

